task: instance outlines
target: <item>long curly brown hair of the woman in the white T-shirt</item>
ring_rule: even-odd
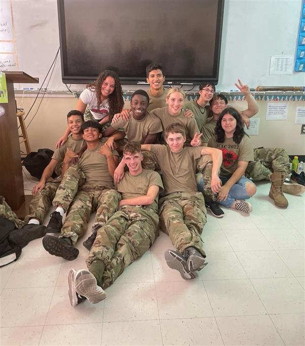
[[[95,91],[97,100],[100,101],[102,84],[107,77],[112,77],[115,82],[114,90],[108,97],[109,115],[110,115],[110,121],[111,121],[113,118],[113,115],[116,113],[120,113],[124,107],[123,91],[121,88],[118,74],[114,71],[105,70],[99,75],[97,80],[95,80],[94,82],[90,84],[87,84],[86,88]]]

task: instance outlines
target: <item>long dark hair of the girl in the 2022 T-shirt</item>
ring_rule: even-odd
[[[227,107],[225,108],[221,113],[217,120],[216,128],[215,128],[215,134],[216,134],[216,141],[218,143],[223,143],[225,141],[225,131],[222,128],[221,121],[225,114],[230,114],[236,119],[236,128],[233,134],[233,141],[237,144],[239,144],[243,138],[243,136],[247,135],[246,132],[243,130],[241,116],[239,112],[233,108],[233,107]],[[248,135],[247,135],[248,136]]]

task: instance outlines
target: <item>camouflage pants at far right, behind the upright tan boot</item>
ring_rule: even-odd
[[[282,148],[255,148],[254,161],[249,162],[246,177],[254,181],[269,180],[272,172],[283,172],[286,177],[291,173],[287,151]]]

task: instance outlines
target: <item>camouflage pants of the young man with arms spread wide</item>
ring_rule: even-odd
[[[173,193],[160,199],[160,229],[167,233],[182,253],[193,246],[203,254],[200,238],[206,224],[206,209],[201,193]]]

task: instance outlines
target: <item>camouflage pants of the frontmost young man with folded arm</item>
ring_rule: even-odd
[[[105,264],[103,289],[109,287],[124,269],[142,256],[158,236],[158,214],[150,208],[123,206],[113,214],[97,237],[86,260]]]

